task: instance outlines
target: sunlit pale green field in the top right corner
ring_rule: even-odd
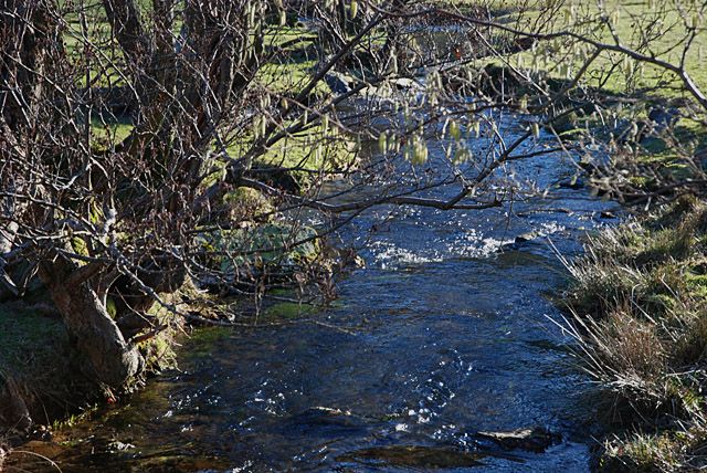
[[[658,60],[677,64],[683,53],[680,45],[688,25],[697,19],[697,35],[685,56],[687,72],[700,87],[707,87],[707,70],[703,66],[701,50],[707,48],[705,19],[697,12],[698,6],[689,2],[636,0],[623,2],[608,0],[601,2],[564,2],[551,18],[546,17],[550,2],[516,2],[526,8],[521,13],[510,12],[499,20],[520,30],[553,33],[568,31],[595,41],[614,43],[614,33],[620,43],[642,53],[654,55]],[[657,24],[659,21],[662,23]],[[648,32],[650,36],[642,34]],[[553,78],[566,80],[577,72],[590,51],[573,40],[540,42],[534,50],[515,54],[509,62],[520,64],[528,70],[544,71]],[[609,74],[611,67],[616,73]],[[635,61],[625,61],[623,56],[604,52],[593,63],[584,83],[590,87],[603,88],[613,93],[641,90],[659,90],[662,96],[680,95],[676,77],[665,75],[659,69],[639,66]]]

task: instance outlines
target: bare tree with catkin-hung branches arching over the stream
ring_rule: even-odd
[[[597,101],[587,76],[606,53],[675,74],[704,111],[685,64],[597,39],[590,27],[553,29],[566,8],[519,6],[509,22],[483,6],[403,0],[3,0],[2,284],[21,295],[36,274],[89,376],[118,387],[144,369],[138,341],[160,329],[149,307],[179,313],[165,294],[187,277],[257,293],[262,254],[340,224],[303,233],[293,216],[305,209],[348,220],[378,204],[482,209],[537,192],[493,182],[513,161],[580,148],[524,144]],[[560,50],[542,52],[549,44],[569,48],[578,64],[559,85],[511,60],[555,57]],[[495,109],[540,118],[507,143]],[[434,166],[430,133],[451,138]],[[485,151],[472,155],[467,143],[479,136]],[[306,150],[295,164],[285,159],[292,143]],[[379,153],[354,165],[371,143]],[[341,161],[333,150],[342,146]],[[321,188],[333,177],[348,182],[336,196]],[[243,188],[273,207],[229,199]],[[431,197],[440,188],[451,197]],[[256,239],[273,220],[291,229],[276,242],[213,244],[224,232]]]

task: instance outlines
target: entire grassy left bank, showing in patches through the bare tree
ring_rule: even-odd
[[[151,14],[150,2],[139,1],[137,4],[145,10],[147,17]],[[87,39],[96,45],[101,44],[98,50],[109,49],[106,39],[110,29],[103,7],[87,6],[83,10],[81,8],[76,7],[74,10],[73,6],[66,6],[65,9],[60,9],[66,21],[66,28],[62,30],[64,45],[74,61],[80,61],[81,52],[86,51]],[[293,25],[266,31],[265,45],[277,53],[277,60],[258,71],[253,87],[287,95],[304,87],[313,78],[315,61],[309,59],[309,55],[317,36],[302,24],[294,24],[296,19],[288,21]],[[88,27],[85,27],[84,22],[87,22]],[[109,153],[116,146],[119,147],[134,129],[134,91],[126,86],[125,76],[118,71],[119,61],[108,67],[102,67],[99,61],[92,62],[92,65],[94,69],[88,75],[93,77],[94,87],[88,95],[93,96],[95,116],[92,117],[89,129],[91,147],[101,153]],[[84,81],[85,75],[78,77],[80,81]],[[81,82],[80,85],[83,86],[84,83]],[[314,103],[316,97],[327,94],[330,94],[328,86],[319,81],[304,99]],[[238,128],[231,133],[234,136],[220,136],[229,145],[226,153],[241,156],[252,147],[253,130],[244,132]],[[283,143],[255,159],[251,169],[251,178],[260,179],[277,191],[298,196],[304,193],[315,179],[323,179],[323,175],[335,175],[339,169],[354,167],[352,144],[342,137],[334,125],[326,128],[309,124]],[[203,187],[219,181],[224,172],[223,162],[214,160],[209,162],[209,166],[212,169],[209,170],[210,176],[203,180]],[[320,246],[310,228],[294,228],[289,222],[282,222],[274,216],[272,201],[276,198],[266,197],[254,189],[234,186],[224,192],[220,201],[212,202],[213,213],[222,212],[231,221],[238,221],[242,228],[204,232],[208,236],[202,236],[198,244],[202,244],[207,252],[219,254],[209,257],[208,261],[200,261],[200,267],[217,267],[224,280],[232,278],[234,262],[243,263],[244,267],[239,270],[244,272],[256,273],[263,270],[263,265],[268,269],[281,265],[283,267],[278,273],[292,273],[300,263],[310,262],[319,255]],[[246,232],[245,228],[257,229]],[[303,239],[308,241],[296,245],[294,250],[278,250]],[[88,256],[86,244],[81,238],[74,238],[72,245],[72,250],[80,256]],[[247,256],[229,257],[230,253],[239,251]],[[225,255],[226,253],[229,255]],[[255,270],[250,267],[256,259],[253,256],[254,253],[258,253],[257,257],[262,259],[257,262],[261,266]],[[0,275],[4,276],[4,271],[8,271],[14,282],[29,285],[24,291],[22,287],[18,290],[11,285],[6,286],[4,281],[0,282],[0,438],[8,438],[10,443],[27,435],[31,437],[35,429],[44,430],[46,425],[89,409],[94,404],[116,402],[140,387],[146,377],[172,366],[175,337],[178,337],[184,325],[189,324],[182,315],[171,311],[175,304],[182,314],[198,313],[201,318],[199,323],[202,324],[203,319],[209,317],[203,314],[204,297],[201,290],[212,293],[222,290],[220,281],[213,281],[214,277],[205,281],[204,277],[204,281],[199,282],[199,292],[186,285],[175,294],[160,293],[161,301],[167,302],[170,309],[160,304],[152,304],[149,309],[139,307],[137,311],[125,307],[129,304],[122,302],[125,294],[119,290],[112,291],[107,298],[108,315],[124,332],[126,340],[139,347],[147,369],[139,379],[130,380],[120,389],[109,390],[88,381],[85,361],[82,360],[82,355],[76,353],[75,344],[70,339],[60,313],[49,292],[34,275],[35,271],[31,264],[20,260],[6,266],[6,261],[0,261]],[[282,274],[273,277],[282,278]],[[252,284],[252,281],[247,280],[245,284]],[[19,294],[22,292],[23,294]],[[253,292],[253,288],[246,287],[246,292]],[[182,299],[184,293],[187,297]],[[140,290],[137,294],[145,297]],[[211,299],[208,302],[213,303]],[[222,306],[218,309],[226,313],[224,305],[229,303],[220,304]]]

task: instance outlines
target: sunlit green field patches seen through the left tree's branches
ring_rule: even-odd
[[[149,17],[148,2],[143,2],[143,8],[144,14]],[[87,39],[83,36],[84,30],[77,13],[67,13],[66,20],[67,30],[64,42],[67,54],[75,62],[78,71],[77,82],[82,86],[85,85],[85,75],[81,71],[88,65],[93,86],[125,85],[120,73],[125,69],[122,63],[123,54],[117,43],[110,38],[110,28],[103,10],[93,8],[86,11]],[[178,33],[179,22],[175,28],[175,33]],[[315,40],[316,35],[303,25],[272,27],[265,32],[265,48],[279,53],[260,69],[251,87],[268,91],[275,96],[302,90],[312,80],[313,70],[316,66],[315,57],[310,57]],[[83,51],[87,42],[102,52],[95,57],[93,64],[85,64]],[[324,96],[329,92],[328,86],[320,82],[313,94]],[[131,130],[129,117],[104,114],[101,118],[92,118],[92,138],[94,147],[98,149],[107,149],[123,141]],[[250,135],[250,130],[236,130],[225,137],[232,157],[240,157],[249,149],[252,141],[249,138]],[[298,168],[296,174],[300,177],[312,171],[331,170],[345,161],[350,161],[350,147],[345,141],[339,143],[338,135],[335,129],[325,132],[321,126],[314,126],[307,133],[287,137],[267,150],[260,161],[278,167]]]

